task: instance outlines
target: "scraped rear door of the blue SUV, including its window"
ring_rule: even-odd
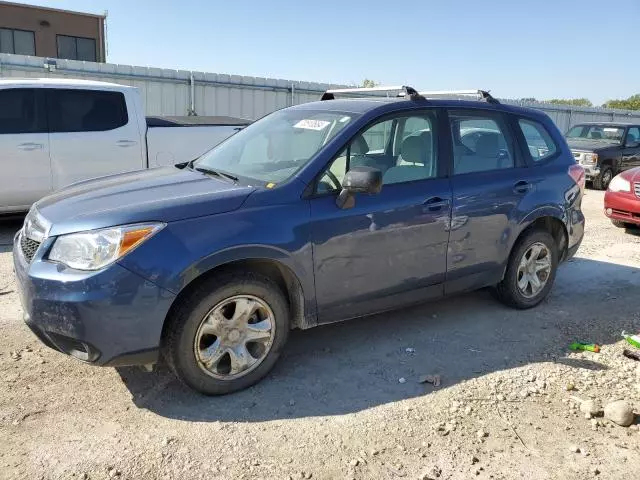
[[[448,116],[453,208],[445,292],[454,293],[499,281],[532,179],[506,115],[449,109]]]

